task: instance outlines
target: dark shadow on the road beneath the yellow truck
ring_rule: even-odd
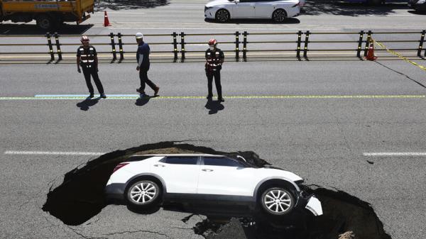
[[[93,24],[63,24],[58,30],[51,30],[51,33],[82,35],[92,28]],[[35,23],[3,23],[0,24],[0,35],[45,35],[46,30],[38,28]]]

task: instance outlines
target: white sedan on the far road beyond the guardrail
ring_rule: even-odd
[[[204,17],[226,22],[237,18],[266,18],[283,22],[300,14],[305,0],[213,0],[204,6]]]

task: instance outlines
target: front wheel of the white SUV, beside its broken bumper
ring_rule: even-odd
[[[260,199],[263,211],[271,216],[284,216],[293,211],[295,197],[283,187],[271,187],[263,191]]]

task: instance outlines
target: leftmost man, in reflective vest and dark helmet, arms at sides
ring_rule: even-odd
[[[97,72],[98,70],[98,59],[96,49],[92,45],[89,45],[89,38],[87,35],[83,35],[80,39],[82,45],[77,49],[77,72],[81,73],[80,66],[83,68],[84,79],[86,79],[87,88],[89,88],[89,98],[93,98],[93,86],[90,81],[92,75],[94,84],[99,91],[101,98],[107,98],[104,94],[104,87],[102,87],[101,80]]]

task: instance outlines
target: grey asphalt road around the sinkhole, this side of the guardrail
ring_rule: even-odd
[[[425,72],[400,61],[228,62],[225,96],[425,95]],[[0,65],[0,96],[87,94],[74,65]],[[170,73],[172,72],[172,73]],[[187,74],[187,72],[192,72]],[[244,72],[241,73],[241,72]],[[267,72],[267,73],[265,73]],[[399,74],[398,72],[402,73]],[[200,63],[154,63],[163,96],[204,96]],[[101,65],[107,94],[135,94],[133,65]],[[416,82],[415,82],[416,81]],[[90,156],[5,155],[6,150],[111,152],[165,140],[221,151],[251,150],[307,184],[346,191],[375,209],[392,238],[426,233],[425,157],[364,157],[364,152],[425,152],[424,98],[226,99],[209,114],[204,99],[0,101],[1,238],[202,238],[204,218],[159,211],[141,215],[109,205],[79,226],[42,211],[50,188]],[[367,162],[373,162],[373,164]]]

